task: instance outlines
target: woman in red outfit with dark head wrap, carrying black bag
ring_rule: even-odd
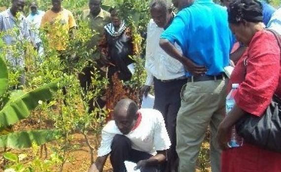
[[[229,131],[244,115],[261,116],[273,94],[281,96],[280,47],[274,34],[264,29],[262,7],[256,0],[233,0],[228,21],[236,38],[247,46],[229,81],[239,84],[234,92],[236,105],[220,123],[218,142],[224,149]],[[222,172],[281,172],[281,154],[244,143],[224,149]]]

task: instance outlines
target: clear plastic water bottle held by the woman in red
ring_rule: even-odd
[[[232,110],[232,108],[235,105],[235,100],[233,97],[233,92],[238,88],[239,84],[232,84],[232,89],[229,92],[229,94],[226,97],[226,115],[229,114],[229,112]],[[231,134],[230,134],[230,140],[228,141],[228,146],[229,147],[239,147],[243,145],[243,138],[240,137],[237,133],[236,133],[236,129],[235,126],[232,127],[231,129]]]

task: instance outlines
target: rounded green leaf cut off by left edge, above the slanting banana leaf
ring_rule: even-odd
[[[8,69],[3,58],[0,57],[0,95],[6,91],[8,83]]]

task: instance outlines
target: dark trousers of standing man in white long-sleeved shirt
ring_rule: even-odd
[[[162,82],[161,80],[154,78],[154,109],[162,113],[172,143],[170,149],[167,150],[168,162],[165,172],[177,172],[176,116],[180,108],[180,90],[186,82],[186,79]]]

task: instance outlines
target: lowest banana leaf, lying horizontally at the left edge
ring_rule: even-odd
[[[58,130],[21,131],[0,136],[0,147],[29,148],[32,147],[32,143],[42,145],[57,140],[59,137],[61,133]]]

